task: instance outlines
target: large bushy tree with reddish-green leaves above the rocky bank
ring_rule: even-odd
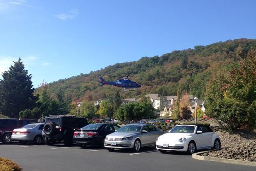
[[[207,116],[217,119],[227,130],[256,128],[255,71],[256,51],[250,50],[230,74],[222,72],[213,76],[207,83]]]

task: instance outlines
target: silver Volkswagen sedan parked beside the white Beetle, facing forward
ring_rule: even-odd
[[[104,146],[109,151],[115,148],[132,148],[135,152],[141,147],[155,145],[163,131],[151,124],[129,124],[106,136]]]

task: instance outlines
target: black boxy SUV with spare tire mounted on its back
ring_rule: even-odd
[[[44,141],[53,145],[56,141],[64,141],[64,145],[73,144],[75,130],[88,125],[87,119],[73,115],[50,115],[44,122]]]

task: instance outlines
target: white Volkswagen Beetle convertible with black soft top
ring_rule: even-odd
[[[207,125],[190,124],[177,125],[169,133],[157,138],[156,148],[161,153],[166,151],[187,151],[221,148],[220,137]]]

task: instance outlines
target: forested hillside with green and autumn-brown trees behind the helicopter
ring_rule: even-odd
[[[195,46],[194,49],[176,50],[160,57],[143,57],[139,61],[118,63],[89,74],[55,81],[47,84],[47,89],[52,95],[60,90],[64,91],[65,96],[72,101],[94,101],[117,91],[122,98],[141,97],[149,93],[176,96],[178,90],[204,99],[205,86],[212,73],[237,66],[239,58],[246,56],[250,48],[256,49],[256,39],[236,39],[208,46]],[[114,81],[117,78],[109,77],[108,74],[127,76],[129,73],[130,77],[140,78],[131,80],[142,87],[135,91],[122,91],[118,87],[100,87],[97,82],[98,75],[106,81]],[[38,87],[36,93],[40,90]]]

